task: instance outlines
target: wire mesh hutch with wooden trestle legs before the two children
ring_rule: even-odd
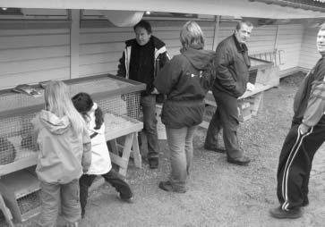
[[[124,137],[120,152],[111,152],[112,162],[126,174],[129,157],[141,167],[137,132],[143,128],[140,91],[143,84],[113,75],[64,80],[71,95],[87,92],[105,113],[107,140]],[[43,94],[39,86],[35,86]],[[34,146],[30,120],[44,106],[44,97],[0,91],[0,193],[18,222],[39,213],[39,182],[35,174],[38,148]],[[115,143],[114,143],[115,144]],[[133,151],[133,153],[132,153]],[[0,201],[1,203],[1,201]]]

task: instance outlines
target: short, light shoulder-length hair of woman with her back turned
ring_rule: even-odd
[[[199,24],[195,21],[187,21],[181,29],[180,40],[185,49],[192,45],[203,47],[204,35]]]

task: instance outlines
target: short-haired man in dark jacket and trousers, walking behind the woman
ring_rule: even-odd
[[[246,89],[252,90],[248,82],[251,61],[248,57],[246,41],[250,38],[252,23],[239,21],[235,33],[224,39],[217,47],[216,80],[212,92],[216,99],[217,110],[207,131],[204,148],[216,152],[227,152],[227,162],[247,165],[250,158],[244,156],[237,138],[239,126],[237,98]],[[218,133],[223,129],[225,148],[218,146]]]

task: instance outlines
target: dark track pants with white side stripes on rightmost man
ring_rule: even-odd
[[[287,134],[278,161],[278,201],[283,210],[303,206],[308,201],[308,183],[312,159],[325,140],[325,116],[301,135],[299,123],[294,123]]]

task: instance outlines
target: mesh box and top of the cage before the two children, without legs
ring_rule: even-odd
[[[89,93],[106,114],[106,119],[112,123],[112,127],[114,125],[115,127],[127,127],[127,123],[132,123],[132,121],[125,121],[125,119],[139,119],[141,89],[139,91],[132,89],[136,85],[126,80],[116,80],[107,76],[95,77],[91,80],[68,83],[68,86],[72,97],[79,92]],[[44,105],[44,90],[41,90],[41,94],[42,97],[16,93],[0,95],[0,166],[37,155],[31,120]],[[98,94],[100,96],[97,96]],[[39,108],[34,113],[10,114],[11,111],[17,112],[17,109],[36,105]],[[1,115],[3,111],[9,112],[9,114],[3,116]]]

